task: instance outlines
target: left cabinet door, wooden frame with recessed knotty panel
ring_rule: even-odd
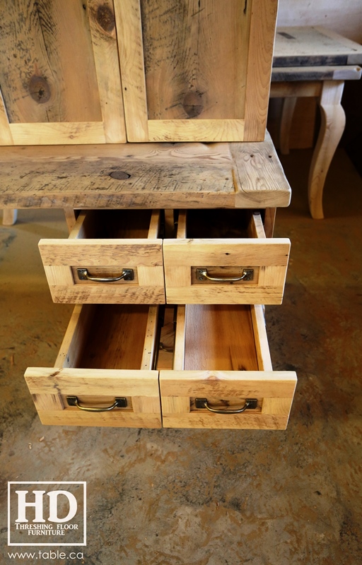
[[[112,0],[5,4],[0,144],[124,143]]]

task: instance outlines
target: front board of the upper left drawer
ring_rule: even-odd
[[[39,249],[54,302],[165,303],[162,239],[41,239]]]

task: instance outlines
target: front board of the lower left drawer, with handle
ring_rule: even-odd
[[[158,371],[30,367],[25,381],[42,424],[162,427]]]

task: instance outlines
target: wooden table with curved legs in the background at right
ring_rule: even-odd
[[[284,98],[280,126],[281,153],[298,97],[316,97],[321,126],[308,179],[310,214],[323,218],[325,178],[346,117],[341,106],[344,81],[361,78],[362,45],[320,27],[277,28],[271,75],[271,97]]]

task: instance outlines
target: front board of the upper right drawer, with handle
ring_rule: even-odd
[[[288,239],[165,239],[166,301],[281,304],[289,252]]]

